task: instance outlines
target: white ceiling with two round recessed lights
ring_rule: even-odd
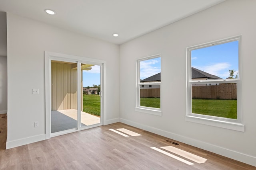
[[[97,39],[122,44],[224,0],[0,0],[11,12]],[[56,15],[44,12],[52,9]],[[113,37],[118,33],[118,37]]]

